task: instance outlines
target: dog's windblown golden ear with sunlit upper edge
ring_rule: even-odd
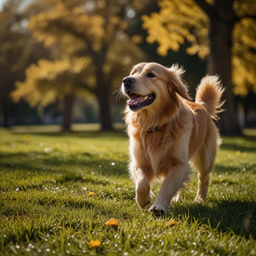
[[[177,95],[180,95],[182,98],[191,100],[188,94],[188,88],[186,83],[183,82],[181,76],[185,70],[180,68],[178,65],[173,65],[167,70],[167,86],[170,95],[175,101],[177,101]]]

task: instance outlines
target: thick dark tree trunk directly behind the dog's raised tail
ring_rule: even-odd
[[[212,75],[218,74],[223,86],[226,87],[222,96],[222,100],[226,100],[223,105],[226,110],[219,113],[220,120],[218,121],[220,133],[225,136],[241,135],[231,83],[232,30],[233,23],[211,18],[209,31],[211,53],[207,60],[210,62],[207,64],[207,72]]]

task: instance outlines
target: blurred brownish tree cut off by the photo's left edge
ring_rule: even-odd
[[[5,127],[9,127],[9,94],[14,89],[14,83],[24,79],[25,68],[42,56],[43,49],[42,44],[27,33],[26,17],[17,11],[20,3],[9,0],[0,12],[0,102]],[[45,55],[47,51],[43,51]]]

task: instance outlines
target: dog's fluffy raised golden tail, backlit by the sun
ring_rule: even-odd
[[[225,101],[221,102],[221,96],[225,88],[222,87],[218,76],[206,75],[202,78],[197,93],[195,102],[205,106],[209,114],[214,119],[219,119],[217,114],[224,111],[221,109]]]

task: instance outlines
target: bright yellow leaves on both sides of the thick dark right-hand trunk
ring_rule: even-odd
[[[205,0],[213,4],[214,0]],[[146,41],[157,42],[157,53],[166,56],[168,50],[178,51],[185,40],[191,43],[187,54],[204,59],[210,53],[208,44],[209,18],[194,0],[159,0],[159,13],[142,16]],[[255,0],[234,1],[238,17],[256,14]],[[235,23],[232,48],[232,82],[234,93],[246,95],[253,86],[256,93],[256,21],[243,18]]]

